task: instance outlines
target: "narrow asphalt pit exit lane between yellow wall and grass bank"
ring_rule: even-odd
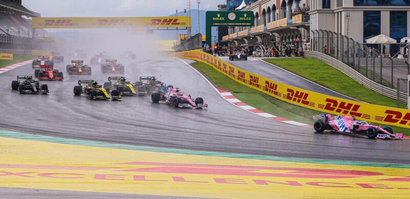
[[[321,93],[325,95],[330,95],[334,97],[339,97],[343,99],[350,99],[357,101],[354,98],[342,95],[340,93],[334,92],[330,89],[327,89],[323,86],[320,86],[316,83],[313,83],[309,80],[306,80],[304,78],[301,78],[293,73],[290,73],[286,70],[283,70],[279,67],[276,67],[270,63],[264,62],[260,60],[260,58],[257,57],[248,57],[248,60],[234,60],[231,61],[229,60],[228,57],[223,57],[222,58],[224,61],[227,61],[236,67],[239,67],[243,70],[247,70],[252,73],[256,73],[258,75],[262,75],[264,77],[267,77],[269,79],[273,79],[275,81],[278,81],[280,83],[288,84],[291,86],[298,87],[300,89],[305,89],[309,91],[313,91],[316,93]]]

